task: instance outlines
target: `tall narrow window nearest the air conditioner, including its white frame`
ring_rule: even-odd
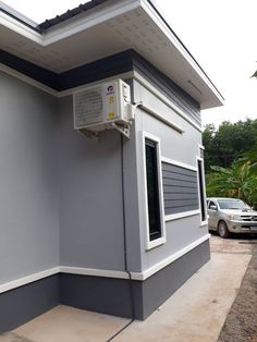
[[[143,148],[146,248],[150,249],[166,242],[160,142],[157,137],[143,133]]]

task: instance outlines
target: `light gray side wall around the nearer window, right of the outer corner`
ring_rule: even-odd
[[[161,157],[185,163],[197,168],[197,157],[199,157],[199,144],[201,144],[200,127],[197,130],[191,123],[180,118],[161,99],[146,89],[138,82],[134,82],[135,102],[143,102],[144,107],[161,114],[184,133],[179,133],[166,123],[154,118],[144,110],[137,109],[136,113],[136,141],[137,141],[137,172],[138,187],[144,190],[144,145],[143,132],[147,132],[160,139]],[[206,236],[208,231],[206,225],[201,225],[200,215],[194,215],[166,222],[166,243],[147,251],[147,229],[144,191],[139,196],[139,220],[142,241],[142,270],[145,271],[170,256],[186,248],[192,243]]]

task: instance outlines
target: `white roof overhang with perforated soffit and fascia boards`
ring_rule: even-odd
[[[39,25],[7,5],[0,10],[0,49],[47,70],[62,73],[134,49],[201,109],[223,103],[152,0],[91,0]]]

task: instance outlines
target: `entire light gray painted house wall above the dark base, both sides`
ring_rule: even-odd
[[[124,270],[124,221],[132,271],[148,269],[207,233],[199,216],[170,221],[167,243],[145,248],[142,132],[161,139],[163,157],[194,167],[201,138],[171,108],[134,85],[135,101],[169,118],[184,133],[137,109],[132,138],[123,139],[123,147],[115,131],[103,132],[96,143],[74,132],[71,96],[56,100],[1,74],[1,282],[58,265]]]

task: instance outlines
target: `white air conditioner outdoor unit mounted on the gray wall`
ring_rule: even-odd
[[[74,130],[98,133],[127,130],[133,119],[131,89],[122,80],[86,87],[73,94]]]

